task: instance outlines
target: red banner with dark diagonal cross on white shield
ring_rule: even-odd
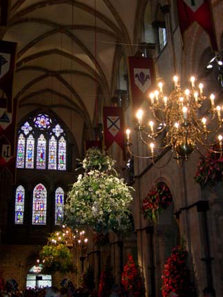
[[[123,149],[124,125],[122,107],[104,107],[103,122],[106,149],[109,149],[113,142],[116,142]]]

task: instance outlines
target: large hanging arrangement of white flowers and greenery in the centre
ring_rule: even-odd
[[[68,192],[65,205],[67,225],[72,228],[91,227],[103,233],[131,230],[129,205],[132,188],[118,177],[114,162],[94,148],[87,151],[83,164],[87,172],[78,176]]]

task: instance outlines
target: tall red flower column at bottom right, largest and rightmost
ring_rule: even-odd
[[[167,297],[171,292],[179,297],[193,296],[195,289],[189,281],[185,244],[173,248],[162,272],[162,296]]]

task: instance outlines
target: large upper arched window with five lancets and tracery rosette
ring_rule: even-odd
[[[55,118],[45,113],[30,116],[18,136],[17,168],[66,170],[66,135]]]

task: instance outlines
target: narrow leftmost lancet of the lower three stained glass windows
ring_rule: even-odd
[[[23,224],[24,215],[24,202],[25,202],[25,189],[23,186],[18,186],[16,190],[16,199],[14,207],[14,223],[21,225]]]

